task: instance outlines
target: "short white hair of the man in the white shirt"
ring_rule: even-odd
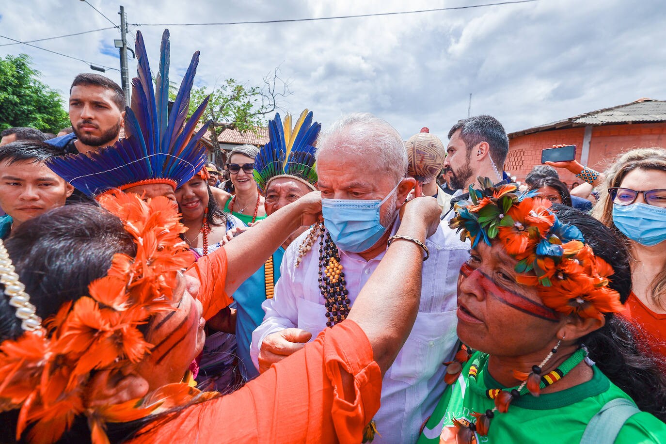
[[[317,139],[317,160],[322,152],[364,154],[386,175],[400,182],[407,174],[407,151],[402,137],[386,120],[367,112],[347,114]],[[363,168],[364,165],[360,165]]]

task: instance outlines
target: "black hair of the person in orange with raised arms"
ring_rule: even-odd
[[[5,247],[43,320],[88,294],[88,285],[109,272],[114,254],[136,254],[121,220],[95,204],[66,205],[27,220]],[[14,339],[20,323],[7,298],[0,299],[0,341]]]

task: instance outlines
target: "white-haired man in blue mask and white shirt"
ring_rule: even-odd
[[[405,178],[404,141],[390,124],[370,114],[342,118],[320,136],[316,165],[324,224],[284,254],[275,296],[264,302],[266,316],[252,333],[250,354],[260,371],[343,320],[389,242],[416,241],[394,237],[415,180]],[[456,282],[469,246],[442,224],[422,249],[430,258],[418,316],[384,375],[382,407],[374,417],[375,439],[382,443],[416,441],[444,390],[442,363],[456,351]],[[386,324],[404,322],[402,316],[396,312]]]

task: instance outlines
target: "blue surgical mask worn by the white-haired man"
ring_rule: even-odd
[[[324,226],[340,250],[360,253],[376,244],[386,232],[380,224],[380,208],[398,185],[383,199],[322,199]]]

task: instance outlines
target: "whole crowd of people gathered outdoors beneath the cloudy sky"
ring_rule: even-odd
[[[168,37],[2,132],[1,442],[666,442],[665,149],[521,183],[492,116],[305,110],[216,164]]]

